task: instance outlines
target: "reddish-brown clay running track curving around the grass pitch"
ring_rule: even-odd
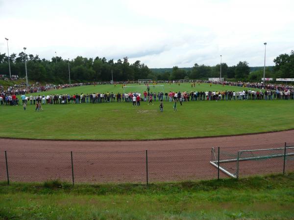
[[[294,143],[294,130],[226,137],[152,141],[46,141],[0,138],[0,180],[6,180],[4,151],[10,181],[72,180],[75,182],[145,182],[211,179],[217,169],[211,148],[236,154],[238,150],[283,147]],[[221,154],[222,156],[222,154]],[[245,165],[246,163],[244,163]],[[235,167],[235,164],[229,166]],[[231,168],[232,168],[231,167]],[[228,167],[228,169],[230,169]],[[282,172],[282,159],[247,162],[242,174]],[[294,170],[294,162],[286,166]],[[224,177],[222,174],[221,176]]]

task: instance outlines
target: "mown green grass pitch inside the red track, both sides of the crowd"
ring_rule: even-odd
[[[172,90],[178,88],[183,91],[188,90],[190,84],[172,86]],[[112,91],[110,87],[113,88],[112,85],[84,86],[58,90],[58,93],[107,92]],[[199,87],[202,87],[201,90],[210,88],[204,84]],[[214,87],[218,90],[232,89],[213,85],[212,88]],[[172,103],[165,102],[163,113],[159,111],[158,101],[153,106],[141,102],[140,107],[117,102],[43,105],[44,111],[40,112],[35,112],[35,107],[30,104],[26,110],[22,106],[0,106],[0,136],[144,140],[271,132],[294,128],[293,107],[293,100],[184,102],[183,106],[177,103],[176,112],[173,112]]]

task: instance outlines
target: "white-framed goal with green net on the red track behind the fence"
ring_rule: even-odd
[[[294,171],[294,146],[232,151],[212,148],[210,163],[224,174],[239,178]]]

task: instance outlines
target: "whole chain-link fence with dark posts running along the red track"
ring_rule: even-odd
[[[137,152],[0,152],[0,181],[154,183],[294,171],[294,143]]]

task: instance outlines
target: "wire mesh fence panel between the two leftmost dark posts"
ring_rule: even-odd
[[[70,152],[7,152],[7,161],[10,181],[71,181],[72,178]]]

